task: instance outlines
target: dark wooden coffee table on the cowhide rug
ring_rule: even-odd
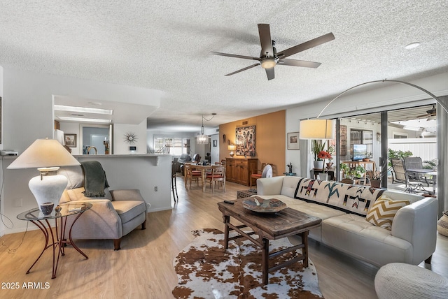
[[[293,210],[287,207],[276,213],[258,213],[247,210],[243,207],[243,200],[248,198],[239,198],[230,200],[233,204],[220,202],[219,210],[223,213],[224,220],[224,246],[228,249],[229,240],[246,238],[262,249],[262,279],[263,284],[268,282],[269,271],[278,270],[297,261],[303,261],[304,267],[308,267],[308,233],[311,228],[321,226],[322,219],[310,216],[303,212]],[[241,222],[242,225],[235,226],[230,223],[230,217]],[[241,228],[249,227],[251,232],[242,231]],[[229,238],[230,231],[237,231],[239,235]],[[258,238],[252,238],[251,235],[258,235]],[[269,240],[278,240],[290,235],[300,235],[302,244],[295,245],[280,251],[269,254]],[[275,265],[269,268],[269,258],[286,254],[290,251],[302,249],[302,254],[286,261],[285,263]]]

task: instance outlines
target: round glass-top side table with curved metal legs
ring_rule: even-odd
[[[41,229],[44,237],[45,237],[45,245],[43,246],[41,254],[36,258],[36,261],[29,267],[27,274],[31,271],[31,268],[36,265],[39,258],[41,258],[43,252],[48,249],[53,249],[53,265],[52,265],[52,279],[56,278],[57,264],[59,263],[59,256],[64,256],[64,246],[69,244],[73,246],[80,254],[82,254],[86,259],[89,257],[79,249],[73,240],[71,240],[71,228],[73,224],[75,224],[76,220],[83,214],[83,212],[87,211],[92,207],[92,203],[62,203],[59,205],[62,209],[59,212],[53,210],[51,214],[44,215],[41,210],[36,207],[35,209],[22,212],[18,214],[17,218],[20,220],[31,221],[38,228]],[[69,228],[69,240],[66,240],[66,222],[67,217],[72,216],[76,217],[72,222]],[[50,225],[50,219],[55,219],[55,231],[53,231]],[[50,240],[51,238],[51,240]]]

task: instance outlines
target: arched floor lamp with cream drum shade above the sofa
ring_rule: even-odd
[[[411,87],[414,87],[416,89],[420,89],[422,92],[428,94],[431,98],[433,98],[437,103],[442,105],[442,108],[448,113],[448,105],[444,103],[443,101],[440,101],[437,99],[437,96],[434,94],[431,94],[428,92],[428,90],[423,89],[422,87],[419,87],[417,85],[414,85],[409,82],[400,81],[400,80],[374,80],[369,82],[364,82],[358,85],[355,85],[353,87],[350,87],[349,89],[344,90],[344,92],[341,92],[338,94],[335,99],[332,99],[329,101],[321,110],[321,112],[317,115],[316,119],[304,119],[300,121],[300,139],[335,139],[335,119],[319,119],[321,117],[323,111],[336,99],[339,99],[339,96],[342,96],[346,92],[349,92],[349,90],[354,89],[356,87],[360,87],[363,85],[371,84],[371,83],[380,83],[380,82],[393,82],[393,83],[399,83],[404,85],[409,85]],[[331,129],[331,133],[329,130]]]

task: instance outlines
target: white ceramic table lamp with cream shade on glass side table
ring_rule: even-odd
[[[38,139],[25,152],[10,163],[8,169],[37,168],[40,175],[29,180],[29,189],[36,198],[39,209],[43,203],[59,204],[68,180],[58,175],[59,166],[80,165],[57,140]]]

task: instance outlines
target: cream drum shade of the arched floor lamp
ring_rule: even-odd
[[[336,122],[333,119],[300,121],[300,139],[335,139]]]

